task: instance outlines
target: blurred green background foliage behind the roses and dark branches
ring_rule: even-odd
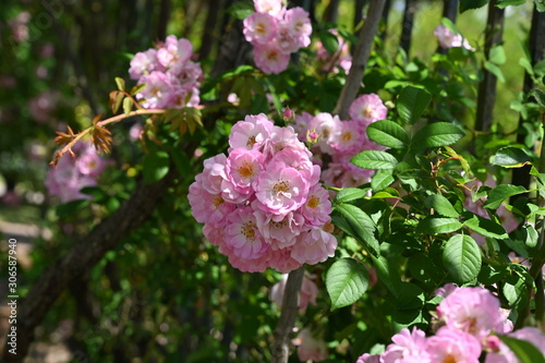
[[[4,238],[20,235],[21,244],[31,246],[29,263],[20,266],[21,295],[45,267],[70,250],[74,240],[129,197],[142,172],[142,149],[129,137],[130,128],[142,120],[128,119],[112,128],[114,166],[93,191],[96,198],[60,205],[44,185],[56,149],[55,131],[64,131],[66,125],[81,130],[90,124],[94,116],[109,114],[108,93],[116,88],[113,78],[128,80],[132,55],[152,47],[166,35],[189,38],[205,75],[209,75],[217,66],[225,35],[237,26],[233,12],[228,11],[234,9],[235,2],[0,2],[0,221],[3,227],[15,226],[15,229],[36,226],[41,232],[22,237],[17,230],[4,230]],[[332,25],[353,33],[354,26],[359,26],[354,14],[358,2],[294,1],[313,14],[314,41],[318,40],[320,28]],[[331,7],[337,5],[334,16]],[[403,9],[401,0],[389,4],[387,22],[382,24],[382,41],[377,43],[371,60],[376,66],[366,74],[366,92],[378,92],[385,80],[395,77]],[[494,121],[500,137],[513,141],[519,113],[510,109],[510,104],[522,90],[524,69],[518,64],[524,57],[531,11],[530,4],[509,8],[506,17],[507,60],[500,66],[505,82],[498,84]],[[433,32],[441,13],[443,1],[419,1],[413,41],[405,59],[405,63],[415,58],[414,64],[424,64],[419,72],[434,66],[431,59],[437,52],[437,41]],[[457,21],[477,53],[484,46],[485,24],[485,9],[465,12]],[[300,62],[307,73],[303,80],[293,70],[270,78],[284,107],[314,112],[330,111],[335,106],[343,75],[313,70],[313,57],[312,50],[301,56]],[[471,71],[475,69],[470,68]],[[312,94],[316,76],[318,94]],[[221,85],[208,82],[207,90]],[[270,89],[270,84],[262,82],[262,86]],[[299,98],[298,93],[305,97]],[[204,92],[205,102],[206,95]],[[395,92],[380,90],[385,100],[392,95]],[[208,94],[209,99],[215,96],[214,92]],[[252,98],[250,110],[270,110],[263,106],[261,96]],[[230,109],[217,120],[216,128],[193,136],[203,141],[203,156],[192,160],[192,173],[180,178],[168,191],[150,220],[108,252],[89,274],[78,278],[60,297],[39,328],[38,342],[31,354],[35,362],[180,362],[180,356],[183,362],[269,360],[268,344],[279,311],[269,301],[268,291],[280,274],[270,270],[242,274],[233,269],[223,255],[204,243],[201,226],[192,218],[185,199],[202,158],[226,148],[230,124],[243,118],[243,113]],[[474,116],[461,112],[457,118],[471,128]],[[7,281],[4,258],[0,267],[2,281]],[[329,302],[319,276],[325,269],[327,264],[308,268],[318,276],[320,293],[317,305],[310,306],[301,319],[329,342],[331,362],[353,362],[375,343],[385,343],[391,337],[392,327],[385,323],[389,306],[380,290],[376,290],[364,298],[362,304],[366,310],[354,313],[347,307],[324,313],[328,312]]]

